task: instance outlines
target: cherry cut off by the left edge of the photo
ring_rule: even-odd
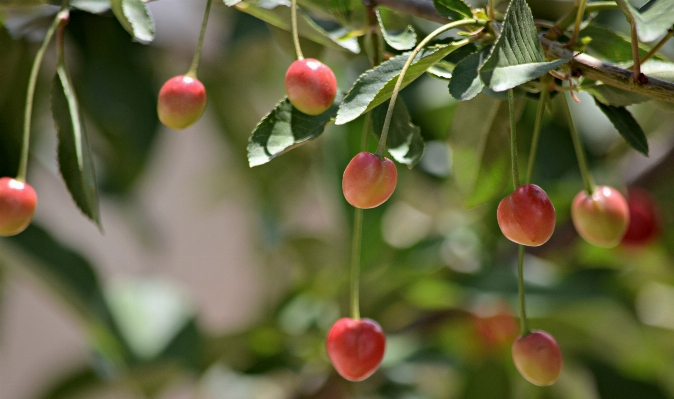
[[[21,233],[33,220],[37,194],[28,183],[0,178],[0,236]]]

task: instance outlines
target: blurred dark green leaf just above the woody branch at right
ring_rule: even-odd
[[[587,45],[587,51],[591,55],[611,62],[632,62],[632,43],[629,37],[594,23],[581,30],[580,36],[592,38]],[[639,44],[639,55],[642,58],[648,51],[647,46]],[[655,57],[662,59],[659,55]]]

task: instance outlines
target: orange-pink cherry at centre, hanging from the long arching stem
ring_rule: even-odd
[[[344,169],[342,191],[349,204],[369,209],[386,202],[397,182],[398,170],[390,159],[361,152]]]

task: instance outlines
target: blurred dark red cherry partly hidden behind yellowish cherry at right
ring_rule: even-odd
[[[630,222],[622,238],[627,245],[646,245],[660,233],[660,211],[651,194],[637,187],[630,188],[627,195]]]

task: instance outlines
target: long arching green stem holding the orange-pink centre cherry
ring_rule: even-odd
[[[428,42],[430,42],[436,36],[448,30],[459,28],[461,26],[479,25],[479,24],[484,24],[484,22],[478,21],[476,19],[462,19],[461,21],[450,22],[429,33],[428,36],[426,36],[421,42],[419,42],[419,44],[417,44],[417,47],[415,47],[414,50],[412,50],[412,53],[410,53],[410,56],[407,58],[407,62],[405,62],[405,65],[403,65],[403,69],[400,71],[400,75],[398,75],[398,80],[396,81],[396,85],[393,88],[393,93],[391,94],[391,100],[388,105],[388,110],[386,111],[386,118],[384,119],[384,126],[382,127],[381,136],[379,138],[379,145],[377,146],[377,151],[374,153],[374,155],[376,155],[379,159],[382,159],[384,157],[384,151],[386,151],[386,140],[388,138],[389,127],[391,126],[391,118],[393,117],[393,108],[395,108],[395,103],[396,100],[398,99],[398,92],[400,91],[400,88],[403,85],[403,81],[405,80],[405,74],[407,73],[407,69],[410,67],[410,65],[412,65],[412,62],[416,58],[417,54],[419,54],[419,52],[424,48],[425,45],[428,44]],[[479,36],[474,36],[468,39],[452,43],[450,44],[450,46],[459,48],[477,39],[479,39]]]

